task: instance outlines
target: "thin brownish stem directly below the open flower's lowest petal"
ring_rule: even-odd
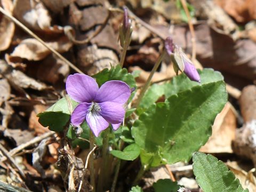
[[[93,150],[93,147],[94,147],[94,135],[92,131],[90,131],[90,151]],[[93,187],[92,191],[95,192],[94,153],[91,154],[89,162],[90,162],[90,184]]]

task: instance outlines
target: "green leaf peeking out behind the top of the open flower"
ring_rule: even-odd
[[[136,87],[136,82],[132,74],[128,73],[127,69],[121,68],[119,65],[110,69],[103,69],[98,74],[93,75],[97,83],[101,86],[103,83],[110,80],[119,80],[127,83],[127,85]]]

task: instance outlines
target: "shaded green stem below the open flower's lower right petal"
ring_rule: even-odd
[[[105,131],[103,143],[102,143],[102,163],[100,167],[99,181],[97,188],[99,192],[103,191],[103,187],[105,186],[105,178],[106,178],[106,170],[108,167],[108,159],[107,159],[107,150],[108,150],[108,140],[109,140],[109,128]]]

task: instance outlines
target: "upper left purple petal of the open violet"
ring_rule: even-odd
[[[70,97],[77,102],[91,102],[95,98],[99,86],[88,75],[74,74],[68,76],[66,90]]]

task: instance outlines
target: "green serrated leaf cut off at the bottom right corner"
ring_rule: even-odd
[[[228,167],[212,155],[194,153],[193,172],[204,192],[249,192],[243,189]]]

